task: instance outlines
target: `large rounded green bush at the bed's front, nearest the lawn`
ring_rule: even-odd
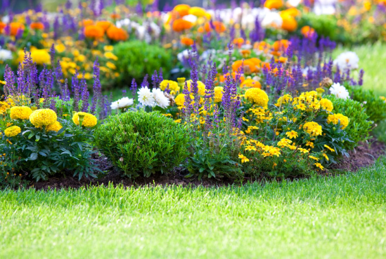
[[[188,156],[183,125],[160,112],[125,112],[109,116],[95,131],[95,143],[129,177],[167,173]]]

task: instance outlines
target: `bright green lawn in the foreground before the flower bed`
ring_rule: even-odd
[[[385,258],[383,162],[242,187],[4,190],[0,258]]]

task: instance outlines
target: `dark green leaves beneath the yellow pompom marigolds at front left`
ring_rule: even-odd
[[[74,176],[95,177],[94,172],[100,171],[93,164],[91,155],[95,153],[91,143],[93,130],[84,130],[71,121],[59,119],[60,130],[48,130],[49,126],[35,127],[27,120],[5,119],[0,130],[14,125],[21,128],[21,133],[7,137],[2,134],[0,147],[6,158],[13,161],[13,170],[23,175],[32,173],[36,181],[47,180],[64,170],[73,171]]]

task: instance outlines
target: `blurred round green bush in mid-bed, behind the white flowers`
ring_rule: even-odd
[[[173,58],[169,51],[139,40],[115,45],[114,54],[119,60],[117,62],[117,69],[121,74],[119,79],[124,84],[128,84],[133,78],[141,81],[144,75],[151,76],[160,68],[164,77],[169,78],[169,71],[173,67]]]

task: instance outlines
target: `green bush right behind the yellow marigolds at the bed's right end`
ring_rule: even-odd
[[[365,112],[365,108],[359,101],[343,100],[335,97],[335,95],[328,95],[326,98],[333,102],[334,113],[343,114],[350,119],[350,123],[344,130],[353,142],[346,141],[343,143],[346,149],[352,150],[357,147],[359,141],[369,139],[372,121],[369,120],[370,116]]]

